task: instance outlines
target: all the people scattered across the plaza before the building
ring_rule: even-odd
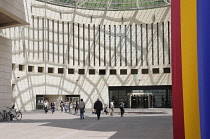
[[[80,102],[76,101],[74,104],[72,104],[72,102],[68,102],[67,100],[65,102],[61,101],[60,102],[61,112],[63,112],[63,110],[65,110],[66,113],[70,112],[71,108],[72,108],[72,105],[73,105],[73,108],[74,108],[74,114],[76,114],[78,112],[78,109],[79,109],[80,110],[80,119],[84,119],[85,118],[84,117],[85,103],[84,103],[83,99],[80,99]],[[52,114],[55,112],[55,106],[56,106],[55,101],[50,103],[50,108],[52,110]],[[114,101],[111,101],[110,108],[111,108],[110,116],[113,116],[114,115]],[[45,113],[48,112],[48,109],[49,109],[49,104],[48,104],[48,101],[45,100],[44,101]],[[101,115],[101,111],[103,110],[103,104],[102,104],[102,102],[100,101],[99,98],[94,103],[94,110],[95,110],[95,113],[97,114],[97,118],[99,120],[100,119],[100,115]],[[121,117],[123,117],[124,112],[125,112],[125,110],[124,110],[124,103],[121,100],[120,101]],[[107,107],[104,109],[104,113],[106,113],[106,114],[108,113]]]

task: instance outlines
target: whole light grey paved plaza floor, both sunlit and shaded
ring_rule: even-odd
[[[125,109],[120,117],[96,115],[86,109],[85,119],[73,113],[23,112],[21,121],[1,122],[1,139],[172,139],[171,109]]]

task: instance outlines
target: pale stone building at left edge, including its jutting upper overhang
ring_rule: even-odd
[[[0,0],[0,29],[28,24],[29,1]],[[12,41],[0,30],[0,108],[12,104]],[[15,86],[15,85],[14,85]]]

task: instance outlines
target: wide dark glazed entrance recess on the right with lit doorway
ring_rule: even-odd
[[[171,85],[162,86],[111,86],[109,87],[109,104],[125,108],[171,108]]]

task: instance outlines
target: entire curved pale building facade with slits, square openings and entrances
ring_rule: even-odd
[[[68,2],[68,3],[67,3]],[[115,106],[172,107],[170,2],[31,0],[30,25],[12,40],[13,103],[97,98]]]

